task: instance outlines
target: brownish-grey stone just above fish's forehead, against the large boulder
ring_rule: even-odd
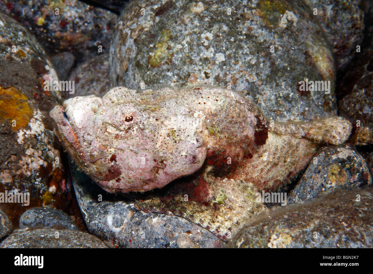
[[[109,76],[109,53],[99,54],[80,63],[72,70],[69,81],[75,81],[75,92],[66,92],[65,98],[96,95],[102,97],[113,85]]]

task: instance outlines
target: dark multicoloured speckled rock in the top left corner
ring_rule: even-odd
[[[58,15],[56,14],[58,9]],[[117,15],[78,0],[0,1],[0,10],[38,37],[47,53],[69,51],[78,60],[108,51]]]

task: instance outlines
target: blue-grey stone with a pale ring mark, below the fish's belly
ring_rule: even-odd
[[[133,203],[100,202],[87,220],[100,239],[122,248],[218,248],[223,242],[184,218],[136,210]]]

